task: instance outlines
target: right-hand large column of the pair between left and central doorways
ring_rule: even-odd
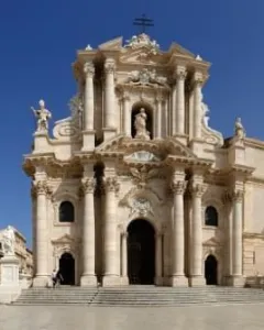
[[[119,189],[117,177],[105,177],[106,189],[106,219],[103,234],[105,274],[103,286],[119,285],[120,278],[117,270],[117,201],[116,193]]]

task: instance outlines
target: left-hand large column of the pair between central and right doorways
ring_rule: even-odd
[[[184,232],[184,191],[186,182],[184,173],[182,179],[175,177],[172,182],[174,193],[174,211],[173,211],[173,262],[172,262],[172,286],[188,286],[187,277],[185,276],[185,232]]]

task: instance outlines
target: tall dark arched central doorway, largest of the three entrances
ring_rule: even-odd
[[[143,219],[136,219],[128,228],[128,266],[130,284],[154,284],[155,230]]]

